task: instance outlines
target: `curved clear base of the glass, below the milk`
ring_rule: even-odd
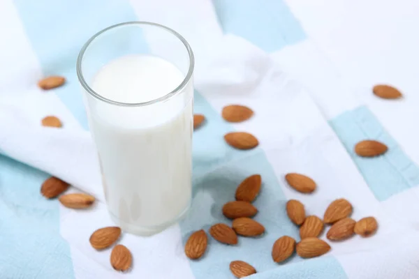
[[[110,218],[112,219],[113,223],[115,223],[115,225],[119,226],[124,232],[127,232],[128,234],[136,234],[136,235],[139,235],[139,236],[152,236],[153,234],[157,234],[159,232],[162,232],[163,230],[167,229],[171,225],[179,222],[179,220],[181,220],[182,218],[184,218],[184,216],[186,216],[186,213],[188,213],[190,208],[191,208],[191,203],[189,203],[188,206],[186,206],[186,209],[184,209],[184,211],[182,211],[182,213],[180,213],[173,220],[170,220],[170,221],[168,221],[166,223],[163,223],[161,225],[151,226],[151,227],[142,227],[142,226],[126,223],[122,220],[119,220],[119,218],[117,218],[115,215],[110,213],[110,211],[108,211],[108,212],[109,212]]]

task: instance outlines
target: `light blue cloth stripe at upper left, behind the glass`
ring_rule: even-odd
[[[87,129],[75,63],[82,45],[94,33],[113,24],[137,20],[124,0],[62,1],[16,0],[30,43],[45,76],[63,75],[66,86],[54,89],[57,96]]]

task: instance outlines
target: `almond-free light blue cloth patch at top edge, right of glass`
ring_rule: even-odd
[[[266,52],[306,38],[300,22],[283,0],[213,0],[221,26]]]

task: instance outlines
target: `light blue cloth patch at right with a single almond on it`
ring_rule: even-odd
[[[358,107],[330,121],[330,125],[360,169],[372,193],[379,201],[419,184],[419,168],[367,107]],[[388,146],[384,156],[362,158],[353,147],[361,140],[378,140]]]

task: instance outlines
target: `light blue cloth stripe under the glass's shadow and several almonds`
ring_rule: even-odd
[[[237,259],[255,266],[258,275],[252,278],[279,278],[274,277],[276,274],[310,274],[313,276],[310,278],[323,279],[346,278],[339,262],[332,257],[319,259],[318,266],[309,262],[291,264],[295,269],[283,269],[285,266],[272,261],[271,248],[280,236],[293,236],[299,240],[298,228],[286,216],[287,200],[274,169],[261,149],[238,151],[228,146],[223,141],[223,135],[232,131],[232,126],[223,121],[219,112],[215,112],[198,94],[195,96],[195,109],[209,120],[193,133],[193,203],[189,215],[180,223],[183,241],[198,229],[203,228],[208,232],[215,223],[230,225],[231,220],[222,214],[222,206],[235,199],[237,185],[251,174],[260,174],[263,179],[262,190],[253,204],[259,211],[254,219],[266,229],[265,234],[258,238],[240,237],[237,246],[226,246],[210,236],[205,256],[199,261],[191,261],[191,269],[196,278],[233,278],[228,266]],[[300,257],[293,257],[288,262],[300,261]],[[325,273],[325,266],[328,273]],[[266,277],[265,274],[272,277]]]

